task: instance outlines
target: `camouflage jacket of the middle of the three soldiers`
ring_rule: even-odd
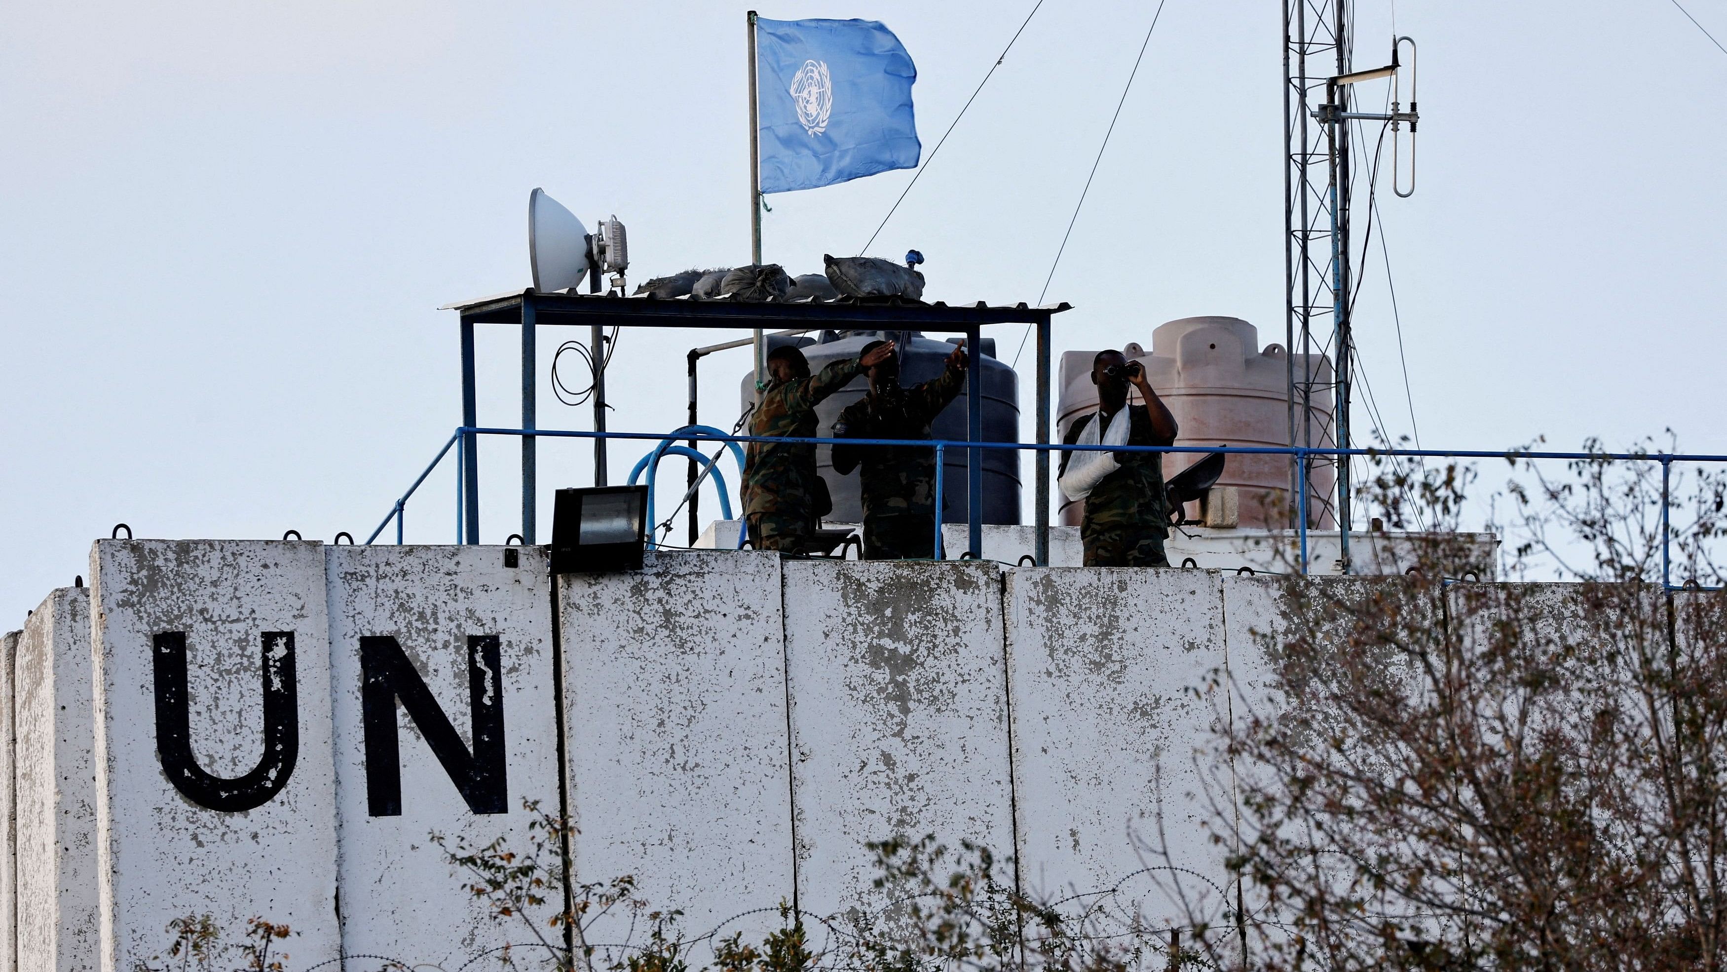
[[[965,385],[965,371],[948,368],[912,388],[893,387],[846,406],[834,439],[929,439],[929,423]],[[834,445],[834,471],[862,466],[864,520],[934,516],[936,451],[912,445]]]

